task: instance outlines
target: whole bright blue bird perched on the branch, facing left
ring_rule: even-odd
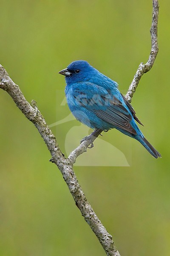
[[[82,60],[73,61],[59,74],[65,76],[68,107],[77,120],[92,129],[116,128],[138,140],[153,157],[161,157],[139,130],[135,120],[142,123],[115,81]]]

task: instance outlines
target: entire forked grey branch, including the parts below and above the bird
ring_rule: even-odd
[[[153,0],[153,20],[152,27],[150,29],[152,38],[152,47],[149,56],[149,60],[146,64],[141,63],[134,76],[132,83],[130,84],[129,90],[126,94],[126,99],[131,102],[133,94],[135,93],[136,87],[144,73],[148,72],[155,61],[156,55],[158,53],[158,43],[157,43],[157,25],[158,25],[158,13],[159,13],[159,3],[158,0]],[[89,224],[91,229],[94,231],[95,235],[99,239],[100,244],[104,248],[108,256],[120,256],[119,251],[116,249],[113,242],[112,236],[105,229],[93,208],[89,204],[81,186],[78,183],[77,177],[73,170],[73,163],[75,163],[76,158],[87,151],[87,148],[91,145],[93,146],[94,140],[101,134],[101,130],[96,130],[91,133],[88,137],[83,140],[83,142],[71,152],[68,159],[62,154],[59,145],[56,141],[55,136],[52,134],[50,128],[45,122],[42,114],[37,108],[37,103],[35,101],[31,102],[31,105],[23,96],[19,86],[15,84],[8,73],[0,65],[0,88],[6,90],[6,92],[11,96],[11,98],[16,103],[17,107],[23,112],[23,114],[30,120],[37,130],[39,131],[41,137],[45,141],[48,150],[51,153],[51,162],[55,163],[59,170],[61,171],[65,182],[71,192],[71,195],[76,202],[77,207],[85,218],[85,221]]]

